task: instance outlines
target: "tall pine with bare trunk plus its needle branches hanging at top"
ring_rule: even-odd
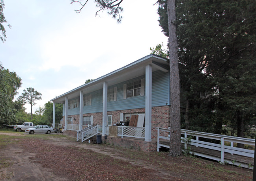
[[[120,4],[123,0],[95,0],[96,7],[99,10],[96,12],[96,15],[99,11],[105,9],[108,10],[108,14],[112,15],[113,18],[116,18],[118,22],[121,21],[120,12],[123,11],[123,8],[120,7]],[[82,8],[86,5],[88,0],[82,4],[80,1],[72,0],[73,2],[79,2],[81,8],[75,10],[77,13],[80,13]],[[162,0],[158,0],[156,3],[161,3]],[[180,135],[180,90],[179,90],[179,59],[178,59],[178,42],[176,35],[176,10],[175,10],[175,0],[166,1],[167,9],[165,13],[167,14],[168,20],[168,35],[169,35],[169,52],[170,52],[170,156],[179,156],[181,155],[181,135]]]

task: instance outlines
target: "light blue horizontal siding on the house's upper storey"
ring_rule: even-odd
[[[145,75],[134,78],[134,79],[130,79],[122,83],[118,83],[113,86],[109,86],[108,89],[117,87],[117,95],[116,95],[116,101],[108,102],[107,111],[145,108],[145,96],[135,96],[135,97],[123,99],[123,85],[127,83],[131,83],[133,81],[143,79],[143,78],[145,78]],[[91,92],[89,94],[85,94],[84,96],[87,96],[90,94],[92,94],[92,105],[84,106],[83,114],[102,112],[103,89]],[[163,105],[166,105],[166,103],[167,105],[170,105],[169,74],[164,73],[160,70],[152,72],[152,107],[163,106]],[[63,113],[65,113],[65,105],[63,108]],[[79,107],[68,110],[68,115],[78,115],[78,114],[79,114]]]

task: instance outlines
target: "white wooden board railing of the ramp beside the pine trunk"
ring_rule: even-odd
[[[157,151],[159,151],[159,148],[161,148],[161,146],[166,147],[166,145],[161,143],[161,140],[170,140],[170,129],[161,128],[161,127],[154,127],[154,128],[157,129]],[[186,141],[186,140],[188,140],[188,136],[190,136],[189,142]],[[200,138],[219,140],[220,144],[207,142],[207,141],[200,141],[199,140]],[[247,144],[247,145],[254,146],[255,139],[232,137],[232,136],[226,136],[226,135],[217,135],[217,134],[213,134],[213,133],[204,133],[204,132],[181,129],[181,142],[184,143],[185,149],[188,148],[188,144],[189,144],[189,145],[196,146],[196,147],[220,151],[220,153],[221,153],[220,159],[217,157],[200,155],[198,153],[199,156],[213,159],[216,161],[220,161],[220,163],[226,162],[229,164],[234,164],[234,163],[232,163],[232,161],[225,159],[225,157],[224,157],[225,153],[229,153],[230,155],[235,154],[235,155],[241,155],[241,156],[245,156],[245,157],[254,158],[254,150],[234,147],[234,143],[241,143],[241,144]],[[225,142],[228,145],[230,144],[230,146],[225,145]],[[195,153],[195,155],[197,155],[197,154]],[[241,165],[241,166],[243,166],[243,165]]]

